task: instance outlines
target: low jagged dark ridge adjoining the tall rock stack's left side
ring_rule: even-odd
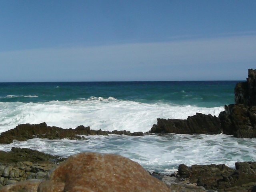
[[[196,113],[188,116],[186,120],[157,119],[150,130],[151,133],[176,133],[176,134],[220,134],[220,120],[211,114]]]

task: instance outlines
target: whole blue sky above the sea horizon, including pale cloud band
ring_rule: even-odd
[[[245,80],[255,0],[1,0],[0,82]]]

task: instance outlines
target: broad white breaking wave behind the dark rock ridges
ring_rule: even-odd
[[[62,128],[84,125],[97,130],[146,132],[156,123],[156,118],[186,119],[196,112],[218,116],[223,110],[224,107],[145,104],[112,97],[44,103],[0,102],[0,132],[18,124],[41,122]]]

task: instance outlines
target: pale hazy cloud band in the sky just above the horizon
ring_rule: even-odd
[[[0,81],[239,79],[256,66],[256,35],[0,52],[0,63]]]

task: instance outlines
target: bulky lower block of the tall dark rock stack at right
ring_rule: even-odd
[[[231,104],[219,114],[224,134],[238,138],[256,138],[256,106]]]

